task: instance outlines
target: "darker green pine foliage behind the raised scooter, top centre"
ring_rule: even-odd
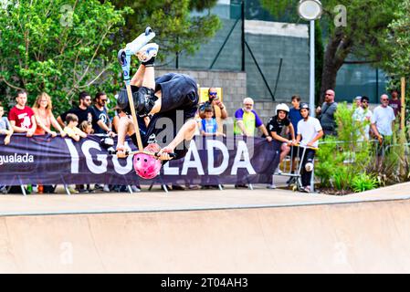
[[[121,42],[130,42],[146,26],[155,31],[155,42],[160,45],[160,59],[183,52],[194,54],[200,45],[215,36],[221,27],[219,18],[210,13],[216,0],[114,0],[118,8],[130,6],[132,15],[125,16],[126,25],[121,29]],[[206,11],[206,16],[192,16],[191,11]]]

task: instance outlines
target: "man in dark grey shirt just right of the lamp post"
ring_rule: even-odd
[[[322,107],[316,109],[316,114],[321,121],[324,134],[331,136],[337,135],[336,120],[334,118],[334,113],[337,110],[337,102],[334,102],[334,97],[335,93],[333,90],[326,90]]]

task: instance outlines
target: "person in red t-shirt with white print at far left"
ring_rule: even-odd
[[[8,113],[8,120],[16,133],[26,133],[27,137],[33,137],[37,123],[34,111],[26,107],[26,90],[17,91],[16,102],[16,106]]]

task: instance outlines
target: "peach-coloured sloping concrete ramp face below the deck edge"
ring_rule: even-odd
[[[410,272],[410,202],[0,217],[1,273]]]

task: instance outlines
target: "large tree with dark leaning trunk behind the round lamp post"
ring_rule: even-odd
[[[299,0],[260,0],[271,14],[278,16],[293,8],[297,16]],[[327,0],[322,1],[322,27],[326,29],[326,48],[321,73],[321,101],[326,89],[334,89],[337,73],[346,58],[354,56],[360,61],[379,65],[389,56],[384,43],[387,27],[394,20],[394,12],[402,0]],[[342,24],[341,6],[346,8],[346,26]],[[407,15],[408,16],[408,15]],[[337,24],[337,26],[336,26]]]

